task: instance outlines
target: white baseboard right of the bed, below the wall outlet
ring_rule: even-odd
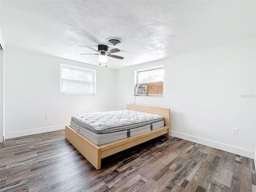
[[[199,144],[206,145],[206,146],[209,146],[209,147],[213,147],[213,148],[216,148],[216,149],[220,149],[220,150],[223,150],[223,151],[226,151],[226,152],[230,152],[230,153],[233,153],[233,154],[248,157],[250,159],[254,159],[254,162],[255,162],[255,155],[254,155],[255,152],[250,151],[250,150],[246,150],[246,149],[243,149],[243,148],[238,148],[238,147],[235,147],[235,146],[231,146],[231,145],[228,145],[228,144],[224,144],[224,143],[220,143],[220,142],[216,142],[216,141],[212,141],[212,140],[208,140],[208,139],[194,137],[194,136],[191,136],[191,135],[187,135],[187,134],[183,134],[183,133],[179,133],[179,132],[175,132],[175,131],[171,131],[170,135],[174,136],[174,137],[184,139],[184,140],[188,140],[188,141],[191,141],[191,142],[195,142],[195,143],[199,143]]]

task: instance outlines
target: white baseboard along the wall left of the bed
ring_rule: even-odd
[[[62,129],[65,129],[65,125],[57,125],[57,126],[51,126],[51,127],[43,127],[43,128],[30,129],[30,130],[24,130],[24,131],[10,132],[10,133],[5,133],[4,139],[33,135],[38,133],[50,132],[50,131],[57,131]]]

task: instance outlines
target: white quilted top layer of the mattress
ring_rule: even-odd
[[[77,114],[72,116],[71,120],[92,132],[102,134],[105,132],[137,128],[152,124],[154,122],[162,121],[163,117],[158,114],[132,110],[119,110]]]

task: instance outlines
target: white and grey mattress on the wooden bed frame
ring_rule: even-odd
[[[77,114],[70,122],[70,127],[98,146],[163,126],[162,116],[132,110]]]

